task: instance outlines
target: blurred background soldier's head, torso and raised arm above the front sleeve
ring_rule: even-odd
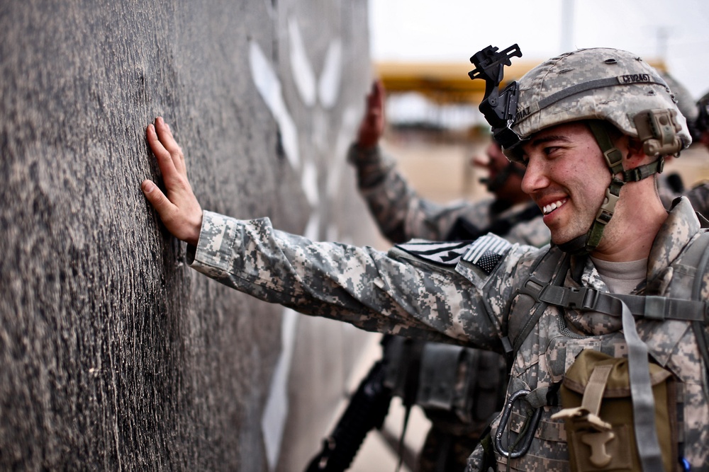
[[[412,238],[431,241],[472,240],[491,232],[513,243],[544,246],[549,230],[529,195],[522,191],[524,167],[502,154],[498,144],[486,149],[488,161],[477,161],[489,171],[486,188],[493,196],[479,202],[437,205],[420,197],[384,154],[384,90],[374,82],[347,160],[357,168],[359,190],[379,229],[389,241]]]

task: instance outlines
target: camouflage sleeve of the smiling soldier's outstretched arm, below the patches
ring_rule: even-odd
[[[501,266],[514,265],[508,256]],[[301,313],[412,338],[498,349],[502,313],[485,297],[510,297],[508,270],[496,281],[373,248],[316,243],[204,212],[190,265],[219,282]],[[480,287],[471,280],[477,280]],[[490,292],[494,288],[494,293]]]

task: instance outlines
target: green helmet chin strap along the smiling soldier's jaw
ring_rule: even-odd
[[[608,130],[603,125],[603,122],[598,121],[588,121],[588,127],[591,128],[593,137],[596,138],[598,146],[605,156],[605,162],[608,163],[608,168],[610,169],[610,175],[612,178],[610,180],[610,185],[605,189],[605,197],[603,199],[603,204],[598,209],[596,213],[596,219],[593,220],[591,228],[588,229],[586,234],[577,236],[571,241],[559,244],[559,248],[570,254],[581,255],[592,253],[598,243],[601,242],[603,237],[603,230],[605,225],[610,222],[613,218],[613,213],[615,212],[615,204],[618,202],[620,197],[620,189],[627,182],[637,182],[644,178],[648,178],[650,175],[655,173],[661,173],[664,167],[664,157],[660,156],[657,161],[653,161],[644,166],[639,166],[637,168],[632,168],[630,171],[623,170],[623,154],[618,150],[613,144],[613,140],[610,139],[608,135]],[[622,175],[622,179],[616,177],[616,175]]]

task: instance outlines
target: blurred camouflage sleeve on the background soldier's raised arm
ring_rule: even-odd
[[[353,144],[347,160],[357,168],[359,190],[379,231],[393,243],[413,238],[442,241],[462,216],[479,227],[489,224],[486,212],[476,212],[469,202],[438,205],[420,197],[379,147],[363,151]]]

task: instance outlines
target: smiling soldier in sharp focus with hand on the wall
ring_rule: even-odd
[[[621,50],[562,54],[499,93],[502,73],[488,69],[510,49],[475,54],[471,74],[497,77],[484,113],[527,167],[551,246],[489,234],[384,254],[203,212],[160,118],[147,141],[167,196],[149,180],[143,192],[191,267],[223,284],[366,330],[508,353],[505,408],[471,471],[707,471],[709,234],[686,198],[666,211],[655,183],[663,156],[691,143],[686,120],[657,71]]]

